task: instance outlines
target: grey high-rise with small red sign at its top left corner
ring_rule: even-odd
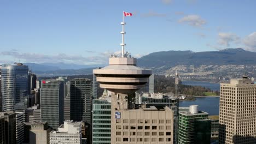
[[[40,88],[41,121],[53,129],[59,128],[64,118],[64,81],[42,80]]]

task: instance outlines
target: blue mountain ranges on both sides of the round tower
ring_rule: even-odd
[[[25,63],[39,75],[83,75],[91,74],[92,69],[104,65],[80,65],[67,63]],[[139,67],[153,69],[155,74],[165,74],[166,70],[177,67],[187,73],[190,65],[197,71],[251,71],[256,70],[256,52],[241,48],[220,51],[160,51],[149,53],[137,59]],[[243,71],[241,71],[243,70]]]

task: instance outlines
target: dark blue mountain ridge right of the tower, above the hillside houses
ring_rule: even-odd
[[[229,65],[256,64],[256,52],[241,48],[220,51],[160,51],[138,59],[146,68],[174,67],[176,65]]]

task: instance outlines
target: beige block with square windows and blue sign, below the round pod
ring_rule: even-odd
[[[115,143],[173,143],[173,111],[168,107],[119,110],[114,123]]]

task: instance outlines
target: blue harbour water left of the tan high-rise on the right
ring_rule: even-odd
[[[183,85],[202,86],[213,91],[219,91],[219,83],[182,81]],[[199,110],[208,112],[209,115],[219,115],[219,97],[197,97],[193,101],[180,101],[179,106],[198,105]]]

